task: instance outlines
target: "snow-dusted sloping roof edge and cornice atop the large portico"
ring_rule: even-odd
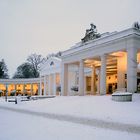
[[[80,51],[85,51],[88,50],[89,48],[95,48],[95,47],[102,47],[102,45],[108,43],[108,42],[114,42],[114,41],[118,41],[119,39],[123,39],[125,37],[128,36],[132,36],[132,35],[137,35],[140,36],[140,30],[136,29],[136,28],[128,28],[126,30],[123,31],[114,31],[114,32],[106,32],[101,34],[100,38],[94,39],[94,40],[89,40],[85,43],[82,42],[78,42],[76,43],[74,46],[72,46],[70,49],[63,51],[61,58],[64,59],[68,59],[68,56],[72,56],[72,54],[77,54],[77,52]],[[84,46],[84,47],[83,47]],[[84,58],[82,58],[84,59]]]

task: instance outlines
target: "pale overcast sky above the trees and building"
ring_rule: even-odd
[[[140,23],[140,0],[0,0],[0,60],[12,77],[32,53],[63,51],[94,23],[99,33]]]

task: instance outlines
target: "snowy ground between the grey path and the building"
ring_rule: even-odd
[[[134,94],[132,102],[115,102],[110,95],[58,96],[20,104],[1,98],[0,106],[140,125],[140,94]]]

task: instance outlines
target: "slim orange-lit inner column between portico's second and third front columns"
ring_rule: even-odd
[[[91,94],[95,94],[95,66],[92,67],[91,72]]]

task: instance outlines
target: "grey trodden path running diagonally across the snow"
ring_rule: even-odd
[[[0,109],[45,117],[48,119],[55,119],[59,121],[67,121],[67,122],[78,123],[78,124],[83,124],[83,125],[88,125],[88,126],[93,126],[93,127],[106,128],[106,129],[111,129],[111,130],[126,131],[129,133],[140,134],[139,125],[123,124],[123,123],[118,123],[118,122],[107,122],[107,121],[98,120],[98,119],[81,118],[81,117],[75,117],[71,115],[60,115],[60,114],[53,114],[53,113],[36,112],[36,111],[30,111],[30,110],[25,110],[25,109],[9,108],[5,106],[0,106]]]

